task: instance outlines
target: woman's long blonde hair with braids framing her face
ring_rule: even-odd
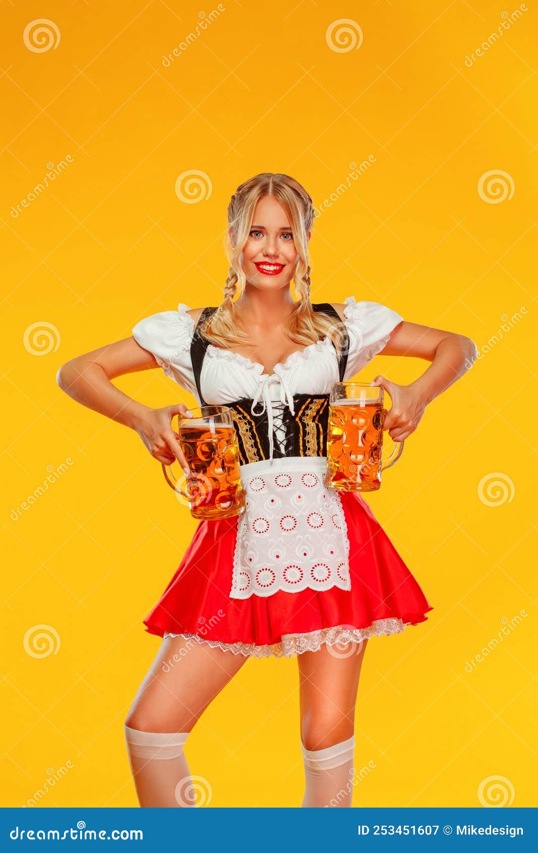
[[[298,260],[293,275],[296,308],[284,324],[286,336],[298,344],[315,344],[329,337],[336,347],[337,356],[342,351],[344,324],[335,317],[315,311],[310,302],[310,263],[308,232],[314,223],[314,204],[298,181],[289,175],[263,172],[249,178],[235,190],[228,206],[228,223],[225,249],[229,258],[229,273],[224,285],[224,299],[217,310],[205,320],[201,334],[211,343],[229,349],[232,344],[242,344],[248,339],[234,303],[234,296],[246,285],[246,276],[240,266],[240,254],[248,239],[254,210],[263,196],[272,195],[286,211],[292,223],[293,242]],[[229,235],[231,231],[231,239]]]

